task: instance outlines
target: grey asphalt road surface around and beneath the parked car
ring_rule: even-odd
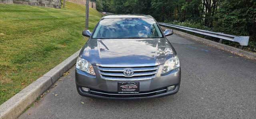
[[[189,38],[168,39],[181,63],[177,94],[142,100],[82,97],[72,67],[19,118],[256,118],[255,60]]]

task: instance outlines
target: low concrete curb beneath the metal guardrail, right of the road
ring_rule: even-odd
[[[170,29],[170,28],[166,28],[166,27],[163,27],[161,26],[161,28],[163,30],[165,29]],[[201,38],[201,37],[198,37],[198,36],[193,36],[191,34],[187,34],[187,33],[184,33],[184,32],[180,32],[178,30],[173,30],[174,34],[178,34],[180,36],[185,36],[185,37],[188,37],[188,38],[191,38],[193,40],[197,40],[199,42],[204,42],[206,44],[210,44],[212,46],[215,46],[215,47],[218,47],[220,49],[223,49],[223,50],[226,50],[226,51],[229,51],[231,53],[234,53],[234,54],[238,54],[240,56],[245,56],[247,58],[251,58],[251,59],[256,59],[256,54],[252,53],[252,52],[248,52],[248,51],[245,51],[245,50],[241,50],[241,49],[238,49],[238,48],[235,48],[235,47],[232,47],[232,46],[228,46],[228,45],[224,45],[224,44],[220,44],[218,42],[214,42],[212,40],[208,40],[208,39],[205,39],[205,38]]]

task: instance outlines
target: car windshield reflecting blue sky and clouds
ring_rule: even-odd
[[[153,18],[108,18],[99,22],[92,38],[162,38]]]

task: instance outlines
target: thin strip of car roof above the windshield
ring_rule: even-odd
[[[144,14],[115,14],[115,15],[104,16],[102,19],[108,19],[108,18],[153,18],[153,17],[150,15],[144,15]]]

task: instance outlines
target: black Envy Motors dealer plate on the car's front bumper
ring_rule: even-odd
[[[118,82],[118,93],[139,93],[139,82]]]

